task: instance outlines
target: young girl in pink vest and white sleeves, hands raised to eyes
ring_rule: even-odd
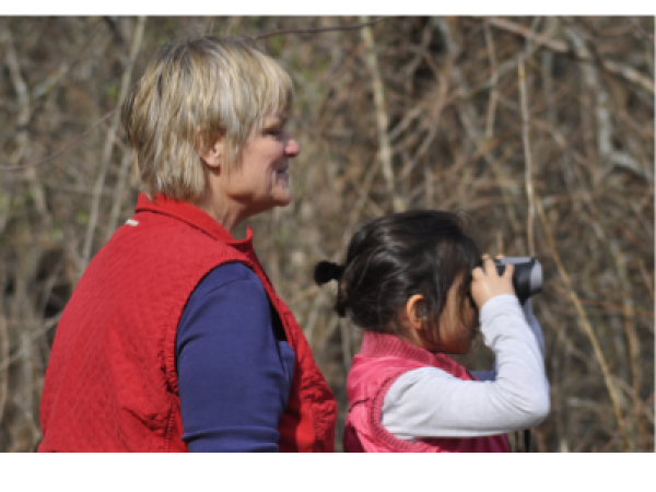
[[[355,233],[343,266],[321,261],[315,280],[338,280],[335,309],[365,330],[347,380],[344,450],[508,452],[505,433],[549,412],[543,339],[506,266],[499,276],[457,215],[418,210]],[[447,354],[478,332],[495,367],[469,373]]]

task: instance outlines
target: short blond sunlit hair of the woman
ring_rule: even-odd
[[[222,159],[238,168],[246,139],[292,101],[289,74],[242,39],[204,35],[162,46],[121,107],[139,188],[151,199],[201,199],[199,152],[221,136]]]

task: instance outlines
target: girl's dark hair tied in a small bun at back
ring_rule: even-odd
[[[317,284],[338,280],[335,311],[371,331],[401,332],[398,315],[414,294],[424,296],[432,326],[459,276],[462,306],[480,258],[460,216],[437,210],[394,213],[364,224],[351,238],[343,266],[321,261]]]

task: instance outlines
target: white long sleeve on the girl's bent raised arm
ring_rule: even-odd
[[[549,413],[542,330],[530,300],[497,295],[480,311],[483,341],[495,354],[492,371],[461,380],[436,367],[402,374],[383,402],[383,425],[401,440],[504,434],[542,422]]]

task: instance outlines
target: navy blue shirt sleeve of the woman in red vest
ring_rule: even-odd
[[[176,368],[183,441],[190,452],[277,452],[294,353],[257,276],[212,270],[180,317]]]

